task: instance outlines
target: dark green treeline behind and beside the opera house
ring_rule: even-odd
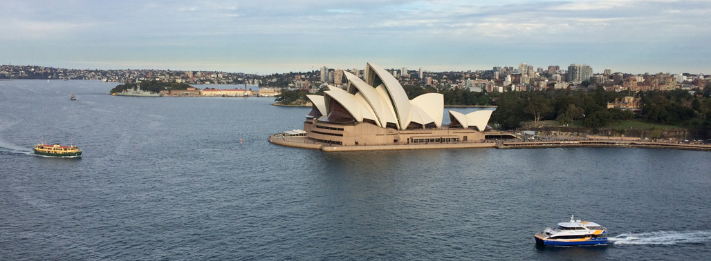
[[[443,94],[445,105],[497,106],[490,125],[498,123],[503,130],[518,128],[523,122],[557,121],[567,126],[573,123],[586,128],[600,128],[618,121],[640,120],[648,123],[711,130],[711,86],[696,89],[696,94],[675,89],[673,91],[642,91],[634,94],[640,101],[641,112],[634,114],[621,109],[607,109],[607,103],[624,100],[626,92],[573,91],[548,89],[545,91],[472,92],[463,89],[434,89],[433,87],[404,86],[409,99],[437,92]],[[322,95],[323,90],[319,91]],[[276,101],[289,104],[296,99],[306,99],[306,90],[284,89]]]

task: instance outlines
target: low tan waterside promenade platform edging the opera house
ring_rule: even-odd
[[[420,143],[420,144],[394,144],[394,145],[329,145],[316,143],[305,136],[284,137],[269,135],[269,142],[277,145],[294,148],[306,148],[323,151],[370,151],[370,150],[429,150],[429,149],[456,149],[456,148],[496,148],[496,143]]]

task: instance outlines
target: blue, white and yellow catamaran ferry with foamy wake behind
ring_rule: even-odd
[[[597,223],[575,220],[558,223],[556,228],[545,228],[534,235],[540,245],[606,245],[607,228]]]

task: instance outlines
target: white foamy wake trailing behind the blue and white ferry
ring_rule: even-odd
[[[624,233],[608,238],[614,245],[677,245],[711,242],[711,231]]]

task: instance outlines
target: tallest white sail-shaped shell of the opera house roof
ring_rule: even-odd
[[[368,75],[368,79],[365,79],[365,82],[368,83],[368,85],[373,86],[378,84],[376,79],[380,79],[380,82],[385,85],[385,89],[387,90],[388,100],[391,101],[392,106],[395,109],[397,121],[400,123],[399,128],[407,128],[412,118],[412,111],[410,109],[410,99],[407,99],[405,89],[402,89],[400,82],[397,82],[397,79],[395,79],[390,72],[383,69],[383,67],[373,65],[368,62],[368,65],[365,68],[365,70],[368,71],[368,74],[366,74]]]

